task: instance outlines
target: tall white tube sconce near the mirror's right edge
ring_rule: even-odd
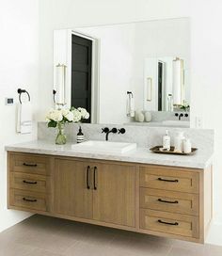
[[[173,104],[182,105],[183,102],[183,59],[173,60]]]

